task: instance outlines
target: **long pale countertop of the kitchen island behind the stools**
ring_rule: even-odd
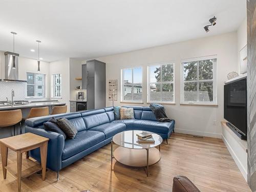
[[[51,105],[65,105],[66,103],[61,102],[32,102],[27,104],[18,104],[18,105],[0,105],[1,110],[11,110],[11,109],[22,109],[22,108],[33,108],[37,106],[51,106]]]

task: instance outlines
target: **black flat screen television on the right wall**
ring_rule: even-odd
[[[233,131],[247,136],[247,87],[246,78],[232,81],[224,85],[224,118]]]

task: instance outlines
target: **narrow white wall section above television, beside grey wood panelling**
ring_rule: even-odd
[[[243,20],[240,27],[238,28],[238,69],[240,74],[240,51],[244,46],[247,45],[247,18]]]

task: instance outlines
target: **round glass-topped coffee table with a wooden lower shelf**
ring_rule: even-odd
[[[160,135],[151,133],[155,143],[139,143],[136,134],[143,131],[124,131],[116,134],[111,141],[111,165],[113,158],[119,163],[131,167],[146,167],[157,163],[161,159],[160,144],[163,139]],[[118,147],[113,151],[113,144]],[[159,146],[159,150],[156,148]]]

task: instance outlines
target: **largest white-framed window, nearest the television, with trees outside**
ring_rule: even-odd
[[[181,72],[182,103],[217,104],[216,56],[184,60]]]

